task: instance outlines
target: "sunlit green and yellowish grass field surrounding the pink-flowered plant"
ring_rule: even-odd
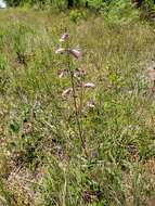
[[[155,205],[155,94],[147,67],[155,28],[102,16],[77,23],[64,13],[0,12],[0,204],[2,206]],[[86,72],[81,150],[65,55],[67,28]],[[79,94],[79,93],[78,93]],[[78,100],[77,100],[78,101]],[[93,101],[95,107],[88,108]]]

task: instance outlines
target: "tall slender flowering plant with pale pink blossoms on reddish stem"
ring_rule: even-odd
[[[73,59],[79,59],[81,56],[81,52],[77,49],[70,49],[69,47],[69,35],[67,33],[63,34],[60,42],[62,42],[63,48],[59,48],[55,53],[56,54],[65,54],[66,55],[66,63],[67,63],[67,75],[69,77],[70,80],[70,88],[67,88],[63,91],[62,96],[63,98],[67,98],[69,94],[72,94],[73,96],[73,101],[74,101],[74,110],[75,110],[75,119],[77,123],[77,129],[78,129],[78,134],[79,134],[79,139],[80,139],[80,143],[81,143],[81,150],[85,153],[85,156],[88,158],[88,151],[87,151],[87,146],[86,146],[86,140],[83,138],[83,130],[82,130],[82,89],[83,89],[83,83],[82,83],[82,75],[83,75],[83,70],[79,69],[79,68],[75,68],[74,65],[74,60]],[[61,70],[61,75],[60,77],[64,76],[63,70]],[[81,95],[79,98],[79,105],[77,102],[77,82],[78,82],[78,87],[81,91]]]

